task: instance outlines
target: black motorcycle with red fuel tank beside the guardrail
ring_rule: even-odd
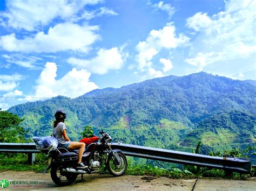
[[[111,149],[110,143],[112,138],[109,134],[103,132],[103,130],[99,133],[101,137],[95,135],[87,137],[88,140],[93,138],[91,139],[93,140],[92,143],[86,145],[82,157],[82,162],[87,168],[76,168],[78,150],[68,151],[63,147],[57,147],[48,153],[48,166],[44,169],[44,173],[51,168],[51,179],[58,186],[71,185],[76,180],[78,174],[97,173],[103,167],[103,172],[107,169],[113,176],[123,175],[127,168],[127,159],[124,153],[121,150]],[[83,142],[83,139],[80,142]]]

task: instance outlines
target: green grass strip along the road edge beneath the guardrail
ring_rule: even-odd
[[[21,153],[4,153],[1,154],[0,159],[0,172],[3,171],[34,171],[37,173],[42,173],[46,167],[46,155],[36,154],[35,164],[29,165],[27,163],[27,154]],[[126,170],[126,175],[147,175],[147,176],[165,176],[172,179],[193,179],[193,178],[203,178],[203,177],[217,177],[217,178],[233,178],[241,179],[250,176],[255,176],[255,168],[252,168],[251,174],[240,175],[239,173],[233,173],[232,176],[227,176],[225,171],[221,169],[207,169],[205,167],[196,167],[183,165],[182,169],[176,166],[170,169],[159,168],[157,166],[152,166],[150,164],[136,164],[131,157],[128,158],[128,167]]]

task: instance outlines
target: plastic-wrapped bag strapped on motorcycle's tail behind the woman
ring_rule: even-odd
[[[36,148],[43,153],[56,150],[58,146],[58,139],[51,136],[33,137],[33,141],[36,143]]]

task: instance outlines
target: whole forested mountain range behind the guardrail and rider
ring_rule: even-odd
[[[255,144],[255,95],[251,83],[200,72],[96,89],[74,99],[58,96],[9,111],[24,118],[28,137],[51,135],[55,111],[63,108],[73,140],[83,126],[102,125],[124,143],[191,151],[201,139],[209,148],[224,149]]]

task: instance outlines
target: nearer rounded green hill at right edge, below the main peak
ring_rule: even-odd
[[[218,151],[231,150],[234,145],[253,145],[256,142],[255,121],[255,116],[238,111],[213,115],[198,123],[180,145],[194,147],[201,140],[202,144]]]

